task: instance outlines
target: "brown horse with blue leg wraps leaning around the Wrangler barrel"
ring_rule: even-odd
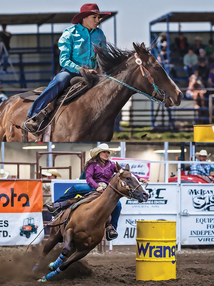
[[[138,179],[131,174],[128,164],[125,169],[122,169],[118,163],[116,163],[116,166],[118,173],[112,178],[101,196],[92,202],[79,205],[78,208],[72,211],[66,227],[64,227],[64,224],[61,227],[52,227],[50,237],[44,246],[39,261],[44,260],[58,242],[63,241],[64,247],[57,260],[49,264],[49,269],[52,272],[38,281],[50,280],[67,269],[73,262],[85,257],[102,241],[105,233],[105,223],[122,196],[137,199],[140,203],[148,200],[149,193],[142,187]],[[56,224],[59,221],[64,222],[66,216],[65,213],[61,219],[56,221]]]

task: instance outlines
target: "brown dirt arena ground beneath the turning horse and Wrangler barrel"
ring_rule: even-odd
[[[0,247],[0,285],[38,286],[36,280],[48,273],[47,265],[60,253],[58,247],[43,261],[35,276],[31,269],[41,251],[33,247],[24,253],[23,247]],[[182,249],[177,253],[177,279],[168,281],[135,280],[135,246],[113,246],[113,253],[91,252],[81,261],[75,262],[59,276],[44,285],[77,286],[114,286],[114,285],[176,285],[176,286],[213,286],[214,284],[214,249]]]

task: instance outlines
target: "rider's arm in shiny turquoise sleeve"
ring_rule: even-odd
[[[79,74],[81,67],[71,61],[71,54],[73,48],[73,37],[71,33],[65,29],[59,39],[60,58],[59,62],[61,67],[65,67],[68,71]]]

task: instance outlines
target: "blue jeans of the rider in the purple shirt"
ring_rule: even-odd
[[[87,193],[89,193],[93,190],[94,189],[91,188],[88,184],[74,185],[70,189],[68,189],[66,191],[66,193],[64,193],[64,195],[61,196],[58,200],[55,200],[54,203],[63,202],[64,200],[72,199],[78,194],[83,196],[83,195],[86,195]],[[112,223],[115,230],[117,229],[117,224],[118,224],[118,219],[120,217],[121,209],[122,209],[121,203],[120,203],[120,201],[118,201],[116,207],[114,208],[114,210],[111,214],[112,215],[111,223]]]

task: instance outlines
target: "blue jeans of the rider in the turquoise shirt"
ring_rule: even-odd
[[[33,117],[45,108],[63,89],[70,85],[70,80],[81,74],[73,73],[63,68],[49,83],[46,89],[37,97],[28,111],[28,117]]]

